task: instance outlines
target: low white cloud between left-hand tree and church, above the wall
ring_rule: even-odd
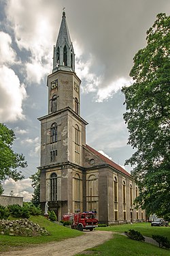
[[[15,182],[12,178],[9,178],[3,182],[4,195],[12,194],[16,197],[24,197],[24,201],[30,201],[33,188],[31,186],[31,180],[29,178],[24,180],[19,180]]]

